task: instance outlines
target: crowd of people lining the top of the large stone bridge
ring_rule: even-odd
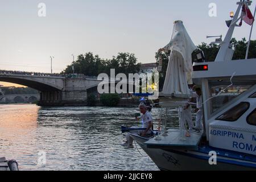
[[[52,77],[66,77],[66,78],[95,78],[96,76],[85,76],[83,74],[60,74],[60,73],[39,73],[39,72],[24,72],[24,71],[9,71],[1,70],[0,75],[27,75],[27,76],[52,76]]]

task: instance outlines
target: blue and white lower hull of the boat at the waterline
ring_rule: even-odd
[[[217,165],[210,165],[208,154],[197,151],[162,150],[147,148],[143,144],[147,139],[131,134],[131,137],[141,146],[160,170],[167,171],[205,171],[205,170],[256,170],[255,162],[217,156]]]

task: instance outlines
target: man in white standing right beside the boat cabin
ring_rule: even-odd
[[[203,105],[202,105],[202,93],[200,88],[196,88],[196,127],[193,127],[193,129],[200,131],[203,130],[203,123],[202,123],[202,118],[203,118]]]

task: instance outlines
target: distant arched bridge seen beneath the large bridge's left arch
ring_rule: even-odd
[[[0,96],[1,104],[9,103],[33,103],[40,100],[40,94],[10,94]]]

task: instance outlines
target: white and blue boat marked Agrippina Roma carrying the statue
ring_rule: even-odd
[[[216,60],[207,62],[199,52],[191,65],[192,81],[200,85],[203,93],[204,130],[192,131],[190,137],[185,136],[183,117],[179,115],[179,128],[164,127],[154,138],[129,133],[161,170],[256,169],[256,59],[232,60],[234,49],[230,44],[234,28],[238,27],[240,10],[244,5],[250,6],[251,1],[240,1],[237,5],[233,19],[227,23],[229,29],[225,39],[216,39],[221,44]],[[182,26],[181,21],[175,24]],[[171,41],[169,47],[174,43]],[[191,50],[185,54],[191,54]],[[188,90],[175,87],[184,86],[181,84],[184,78],[176,85],[166,87],[171,93],[160,94],[159,105],[166,113],[170,108],[182,110],[187,102]],[[216,88],[224,88],[225,93],[216,94]],[[243,92],[227,94],[234,88],[242,88]]]

